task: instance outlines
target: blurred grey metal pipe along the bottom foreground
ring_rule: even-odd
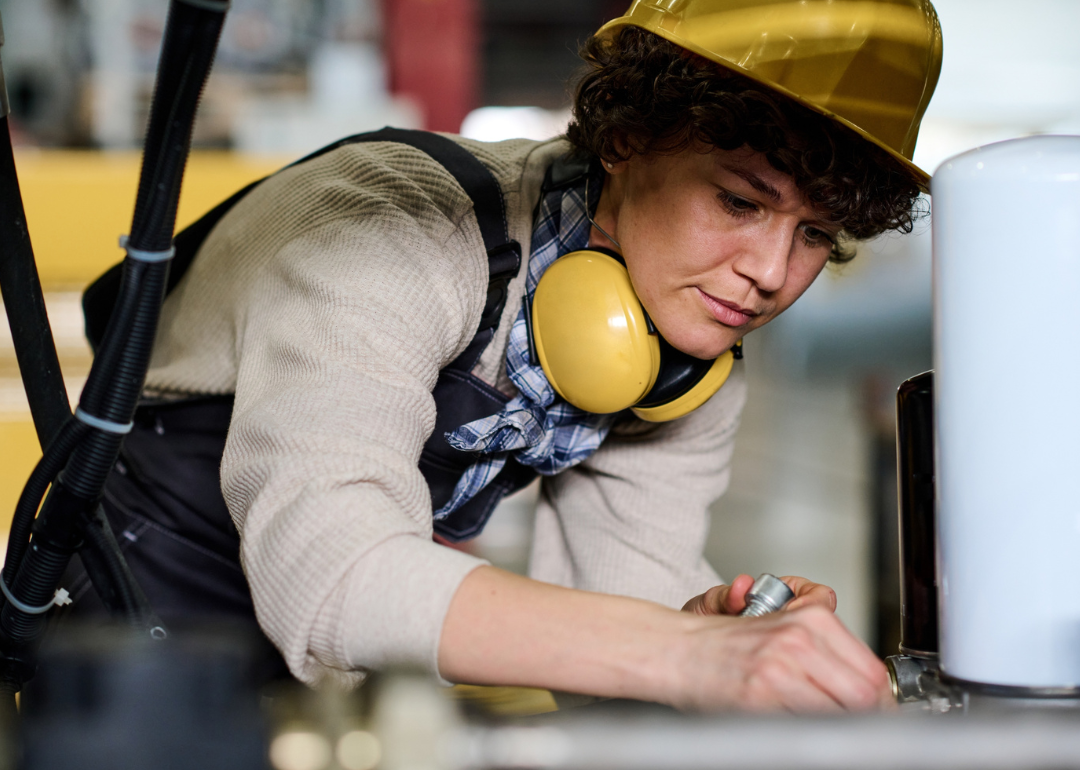
[[[1065,770],[1075,716],[586,717],[448,735],[443,767],[534,770]]]

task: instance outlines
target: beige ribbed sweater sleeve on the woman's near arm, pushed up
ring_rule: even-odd
[[[308,683],[437,673],[449,602],[483,564],[432,542],[417,465],[438,370],[483,308],[475,219],[355,203],[253,272],[234,319],[222,491],[259,623]]]

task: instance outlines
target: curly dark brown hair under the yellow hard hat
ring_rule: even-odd
[[[703,143],[750,147],[789,175],[810,205],[849,239],[910,232],[919,187],[891,156],[850,129],[750,78],[637,27],[581,49],[567,138],[608,161],[676,153]],[[841,242],[842,243],[842,242]],[[829,260],[854,249],[838,243]]]

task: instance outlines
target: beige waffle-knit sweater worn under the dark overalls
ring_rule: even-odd
[[[461,140],[531,241],[567,146]],[[526,265],[475,373],[507,393]],[[165,303],[148,388],[235,393],[221,487],[258,619],[293,673],[355,681],[394,663],[437,673],[438,637],[482,560],[432,542],[418,470],[438,370],[471,340],[487,289],[472,203],[419,150],[352,145],[284,171],[214,230]],[[745,387],[611,435],[545,479],[532,577],[680,606],[717,582],[702,557]]]

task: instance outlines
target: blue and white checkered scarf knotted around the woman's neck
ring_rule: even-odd
[[[545,476],[584,461],[599,448],[616,420],[616,415],[594,415],[567,404],[548,382],[540,365],[532,366],[529,361],[525,307],[532,303],[537,283],[552,262],[589,245],[584,193],[582,181],[548,192],[540,204],[532,229],[525,300],[510,329],[507,349],[507,374],[518,395],[499,414],[446,434],[450,446],[480,452],[481,459],[465,470],[449,502],[435,511],[435,518],[448,516],[471,500],[499,474],[510,455]]]

